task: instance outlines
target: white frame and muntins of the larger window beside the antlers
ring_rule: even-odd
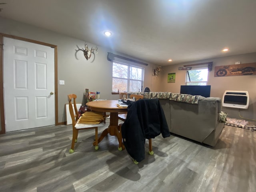
[[[128,69],[127,69],[127,78],[121,78],[121,77],[114,77],[113,76],[113,66],[114,66],[114,63],[116,64],[120,64],[120,65],[124,65],[124,66],[127,66]],[[142,70],[142,74],[141,74],[141,79],[142,80],[137,80],[137,79],[132,79],[131,76],[130,76],[130,68],[131,67],[134,67],[134,68],[138,68],[138,69],[141,69]],[[129,92],[131,91],[130,90],[130,81],[138,81],[141,83],[141,88],[139,88],[141,91],[142,91],[142,88],[144,86],[144,72],[145,72],[145,69],[143,67],[140,67],[140,66],[137,66],[136,64],[128,64],[128,63],[123,63],[123,62],[118,62],[118,61],[112,61],[112,92],[118,92],[118,90],[113,90],[113,79],[120,79],[120,80],[127,80],[127,84],[126,84],[126,88],[127,90],[124,91],[124,92]],[[138,91],[138,90],[137,90]],[[120,90],[120,92],[123,92]]]

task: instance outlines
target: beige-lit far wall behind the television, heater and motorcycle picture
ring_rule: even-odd
[[[208,85],[211,85],[211,97],[222,98],[225,90],[240,90],[248,91],[250,96],[250,102],[248,109],[237,109],[222,107],[222,111],[228,113],[230,118],[243,119],[242,117],[249,119],[256,119],[256,76],[226,76],[226,77],[214,77],[214,67],[222,65],[234,65],[236,61],[240,61],[241,64],[256,62],[256,53],[241,54],[236,56],[228,56],[222,58],[213,58],[207,60],[200,60],[195,62],[188,62],[183,64],[177,64],[172,66],[166,66],[160,72],[161,89],[160,91],[168,92],[180,92],[180,85],[185,85],[186,71],[178,70],[178,67],[183,65],[213,62],[212,71],[208,74]],[[175,83],[167,83],[168,73],[176,73]],[[240,116],[239,116],[240,112]],[[250,120],[249,120],[250,121]]]

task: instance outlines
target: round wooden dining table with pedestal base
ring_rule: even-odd
[[[120,108],[117,106],[117,104],[117,100],[98,100],[86,103],[90,110],[98,112],[110,112],[110,124],[98,138],[98,143],[100,143],[107,134],[110,134],[118,138],[118,150],[122,151],[124,150],[124,144],[122,143],[122,134],[118,126],[118,112],[127,112],[127,108]],[[94,142],[94,145],[95,143],[96,142]]]

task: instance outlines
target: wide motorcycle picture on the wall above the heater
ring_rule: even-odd
[[[216,66],[214,77],[256,75],[256,63]]]

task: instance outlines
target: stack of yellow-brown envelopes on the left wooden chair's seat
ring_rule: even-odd
[[[77,123],[82,124],[99,124],[103,122],[105,119],[105,116],[102,112],[91,112],[87,111],[80,116]]]

